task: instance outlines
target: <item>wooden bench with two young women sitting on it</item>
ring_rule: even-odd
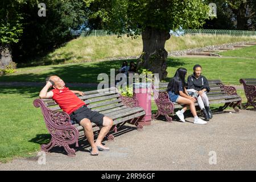
[[[241,104],[241,97],[238,96],[236,88],[233,86],[225,86],[220,80],[208,80],[210,86],[210,92],[207,93],[209,98],[209,104],[220,104],[224,103],[224,106],[219,107],[220,111],[226,109],[230,106],[238,112],[239,109],[237,105]],[[174,109],[182,107],[176,102],[171,102],[167,93],[168,82],[160,82],[159,87],[154,90],[154,101],[158,110],[156,114],[152,114],[152,118],[155,119],[159,115],[164,115],[167,119],[167,122],[172,122],[172,118],[169,117],[169,114],[174,115]],[[198,106],[197,102],[195,103]]]

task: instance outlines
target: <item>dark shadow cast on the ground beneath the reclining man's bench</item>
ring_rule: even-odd
[[[137,130],[137,127],[133,127],[133,126],[121,126],[118,130],[117,133],[113,133],[110,132],[110,134],[114,135],[114,137],[118,137],[118,136],[121,136],[123,134],[126,134],[130,131],[133,131],[133,130]],[[94,134],[94,139],[96,139],[98,137],[98,133],[95,133]],[[31,140],[29,140],[28,142],[32,142],[32,143],[37,143],[37,144],[47,144],[49,143],[51,140],[51,135],[50,134],[38,134],[36,135],[35,138],[32,138]],[[106,142],[108,139],[105,137],[103,142]],[[104,143],[102,143],[104,144]],[[79,147],[75,147],[75,144],[71,144],[69,145],[71,148],[75,148],[76,152],[77,151],[81,151],[81,152],[90,152],[90,144],[88,142],[88,140],[85,138],[85,137],[82,137],[79,139]],[[54,153],[57,153],[57,154],[64,154],[64,155],[67,155],[67,152],[64,150],[63,147],[59,147],[59,146],[56,146],[56,147],[53,147],[51,150],[49,150],[49,152],[54,152]]]

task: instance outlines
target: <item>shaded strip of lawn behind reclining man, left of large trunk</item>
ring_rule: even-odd
[[[0,81],[45,81],[49,75],[57,75],[65,82],[100,82],[97,77],[100,73],[106,73],[110,76],[110,69],[119,69],[124,60],[114,61],[100,61],[97,63],[80,63],[80,64],[65,64],[65,65],[52,65],[49,67],[51,71],[45,73],[24,73],[19,75],[5,75],[0,76]],[[134,59],[126,60],[135,61]]]

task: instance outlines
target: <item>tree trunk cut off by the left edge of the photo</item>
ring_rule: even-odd
[[[5,69],[7,65],[13,62],[11,57],[11,47],[9,44],[0,45],[0,69]]]

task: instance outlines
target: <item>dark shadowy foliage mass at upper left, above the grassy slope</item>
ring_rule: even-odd
[[[85,4],[80,0],[45,0],[46,16],[38,16],[38,3],[22,5],[23,35],[15,49],[17,63],[24,59],[45,55],[71,40],[71,28],[76,30],[85,22]],[[36,41],[35,41],[36,40]],[[19,56],[19,55],[22,55]]]

